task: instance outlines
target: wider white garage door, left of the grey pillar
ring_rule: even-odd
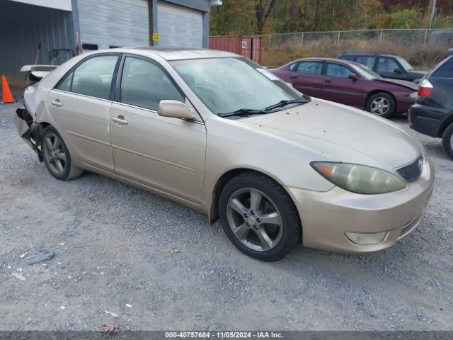
[[[80,41],[99,49],[149,45],[147,0],[79,0]]]

